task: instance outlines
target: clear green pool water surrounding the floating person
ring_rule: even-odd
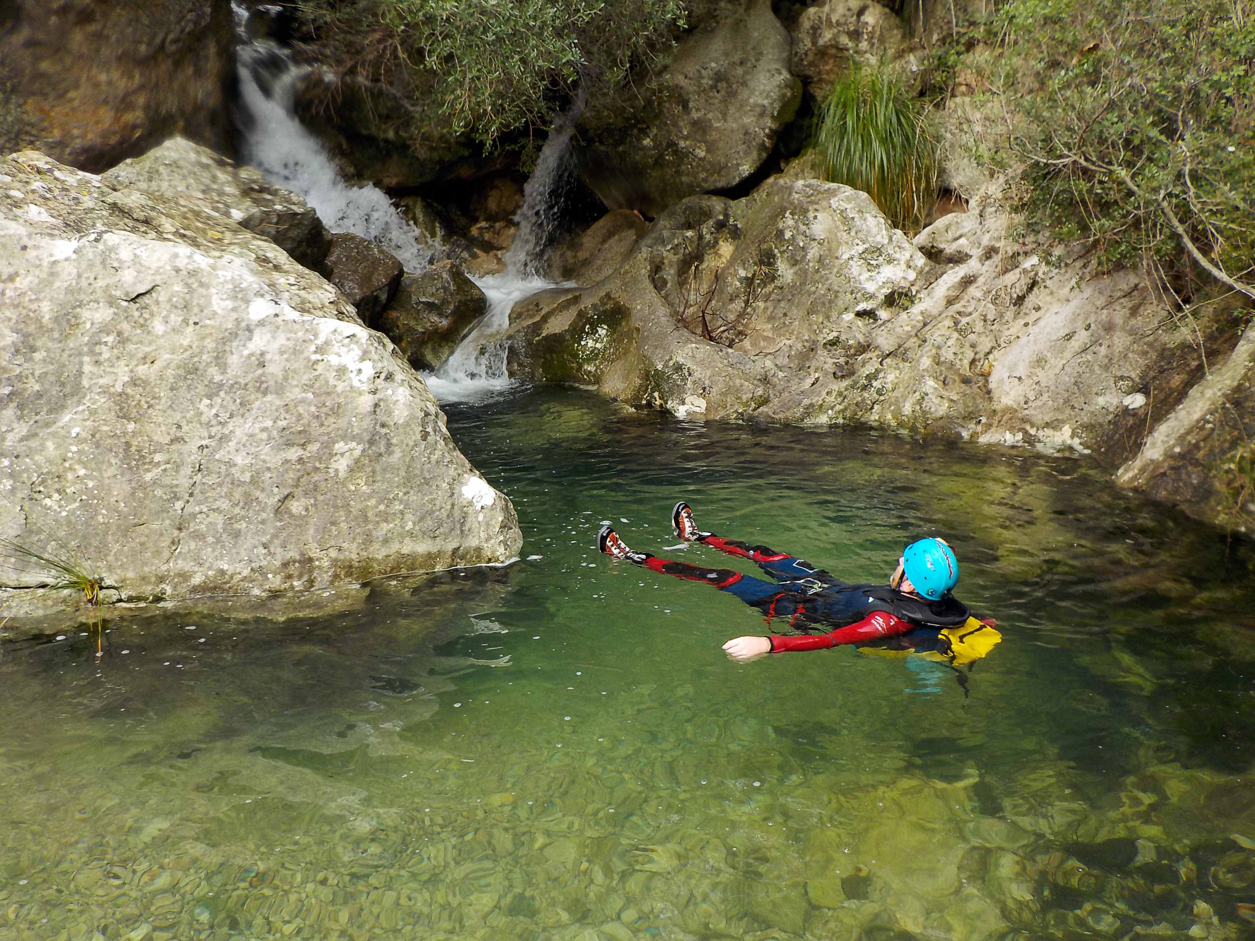
[[[1024,452],[574,391],[449,428],[541,558],[118,620],[99,662],[0,649],[0,937],[1249,935],[1255,585],[1222,538]],[[592,548],[674,545],[681,497],[858,581],[946,533],[1004,641],[965,688],[732,664],[756,611]]]

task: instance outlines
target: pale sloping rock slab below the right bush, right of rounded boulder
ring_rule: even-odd
[[[1196,354],[1137,272],[1104,272],[1076,246],[1014,241],[1014,226],[988,194],[921,232],[939,267],[889,316],[851,319],[807,419],[1119,460],[1147,420],[1128,396],[1188,373]]]

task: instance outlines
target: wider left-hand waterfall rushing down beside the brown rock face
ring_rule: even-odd
[[[321,142],[296,117],[296,87],[309,69],[275,43],[248,38],[246,20],[247,11],[236,5],[245,161],[271,183],[300,193],[330,231],[369,238],[395,255],[407,271],[425,268],[434,252],[423,235],[383,191],[344,182]]]

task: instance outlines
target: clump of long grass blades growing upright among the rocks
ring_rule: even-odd
[[[820,105],[825,177],[865,191],[900,228],[917,228],[936,199],[937,148],[917,99],[887,69],[856,66]]]

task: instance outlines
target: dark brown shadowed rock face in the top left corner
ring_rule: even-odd
[[[0,4],[0,153],[99,172],[174,133],[232,149],[228,0]]]

